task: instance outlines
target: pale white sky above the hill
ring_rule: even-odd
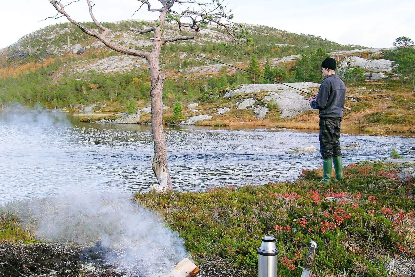
[[[67,1],[67,0],[66,0]],[[63,0],[62,2],[65,2]],[[154,19],[137,12],[136,0],[95,0],[95,17],[103,22]],[[344,45],[391,47],[395,38],[415,40],[414,0],[225,0],[236,7],[234,20],[281,30],[321,36]],[[20,37],[66,19],[41,21],[55,15],[48,0],[0,0],[0,48]],[[71,5],[69,14],[91,21],[85,1]]]

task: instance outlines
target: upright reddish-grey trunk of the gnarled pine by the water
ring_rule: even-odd
[[[160,17],[163,16],[163,13]],[[165,19],[164,19],[165,20]],[[162,21],[162,20],[161,20]],[[161,53],[161,27],[154,27],[153,50],[149,57],[151,77],[151,129],[154,140],[154,158],[151,159],[154,174],[157,177],[158,191],[171,189],[171,178],[167,166],[167,146],[163,130],[163,84],[165,77],[160,72],[159,58]]]

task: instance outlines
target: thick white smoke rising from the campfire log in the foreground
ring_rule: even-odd
[[[39,240],[92,246],[84,257],[106,260],[130,276],[164,276],[186,256],[178,233],[128,195],[46,198],[32,204],[31,213]]]

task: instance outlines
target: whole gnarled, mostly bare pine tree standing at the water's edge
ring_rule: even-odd
[[[161,73],[159,58],[161,54],[161,47],[166,45],[167,42],[176,42],[179,40],[191,40],[198,35],[200,28],[214,23],[227,33],[232,45],[237,45],[243,41],[247,30],[236,23],[232,23],[233,15],[232,10],[227,10],[223,5],[224,0],[137,0],[139,2],[140,10],[143,6],[147,7],[149,12],[159,13],[159,20],[156,20],[153,26],[139,30],[136,28],[130,28],[129,30],[138,32],[139,34],[146,34],[153,32],[153,47],[151,52],[132,49],[124,47],[122,45],[116,45],[107,35],[111,30],[101,24],[93,14],[93,4],[90,0],[85,0],[88,3],[89,14],[97,27],[97,29],[91,29],[85,27],[81,22],[74,20],[66,11],[65,7],[81,0],[73,0],[64,5],[61,1],[49,0],[49,2],[58,11],[58,14],[53,18],[66,17],[74,25],[78,26],[86,34],[96,37],[103,42],[107,47],[117,52],[144,57],[147,59],[150,77],[151,77],[151,127],[153,131],[154,139],[154,158],[151,158],[151,164],[153,171],[157,177],[157,185],[153,188],[156,190],[168,190],[171,189],[171,178],[167,165],[167,147],[166,138],[163,131],[163,84],[166,78]],[[161,7],[160,7],[161,4]],[[157,8],[154,8],[157,5]],[[137,10],[137,11],[138,11]],[[136,12],[137,12],[136,11]],[[135,12],[134,12],[135,13]],[[178,37],[163,38],[162,30],[167,23],[174,23],[178,25],[179,31],[183,29],[190,30],[190,35],[180,35]]]

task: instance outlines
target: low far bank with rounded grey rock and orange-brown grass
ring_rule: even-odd
[[[295,84],[316,93],[314,83]],[[410,88],[400,87],[400,82],[392,79],[375,80],[362,85],[364,87],[347,87],[346,105],[352,110],[344,111],[344,132],[371,135],[415,134],[415,98]],[[183,124],[318,130],[318,111],[308,107],[306,96],[291,90],[284,91],[276,86],[246,85],[242,88],[227,88],[218,90],[210,98],[198,103],[183,101],[182,118],[183,121],[189,119],[190,122]],[[295,97],[289,98],[292,95]],[[81,121],[149,124],[151,109],[147,105],[149,103],[143,101],[137,103],[139,116],[133,116],[133,120],[118,119],[119,111],[126,111],[126,106],[108,104],[103,108],[96,106],[95,110],[114,111],[113,114],[81,116]],[[174,103],[166,102],[166,105],[164,123],[178,123],[178,120],[173,119]],[[202,119],[193,120],[195,116]],[[116,118],[111,120],[111,117]]]

